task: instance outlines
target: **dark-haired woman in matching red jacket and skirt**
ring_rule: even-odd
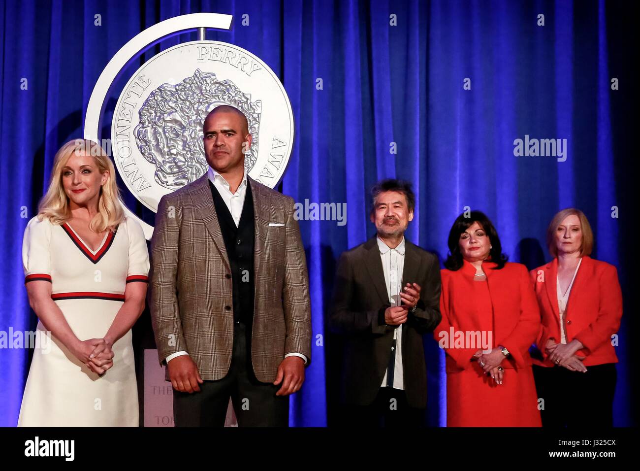
[[[480,211],[456,219],[448,245],[434,332],[446,354],[447,426],[540,427],[529,356],[540,311],[526,267],[506,262]]]

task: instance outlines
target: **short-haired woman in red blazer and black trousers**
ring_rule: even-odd
[[[593,233],[582,211],[554,216],[547,229],[554,260],[531,270],[542,327],[535,361],[543,425],[613,426],[622,293],[616,267],[593,260]]]

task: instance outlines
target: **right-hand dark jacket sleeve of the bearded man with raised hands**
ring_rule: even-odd
[[[409,325],[415,327],[421,334],[433,332],[442,319],[440,314],[440,290],[442,289],[440,264],[438,259],[431,254],[428,254],[427,260],[424,260],[423,263],[429,263],[429,261],[431,265],[420,286],[420,299],[416,304],[416,310],[409,313],[407,320]]]

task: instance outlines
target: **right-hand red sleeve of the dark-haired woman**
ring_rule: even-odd
[[[540,333],[540,306],[524,265],[517,266],[520,278],[520,319],[504,340],[502,346],[511,354],[519,367],[525,366],[524,356]]]

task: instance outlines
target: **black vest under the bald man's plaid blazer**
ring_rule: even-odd
[[[253,224],[253,196],[249,182],[246,183],[244,205],[240,222],[236,227],[227,204],[223,201],[218,189],[209,180],[213,204],[216,207],[218,222],[225,240],[231,276],[234,301],[234,321],[241,321],[251,328],[253,323],[253,296],[255,293],[253,280],[253,240],[255,228]]]

